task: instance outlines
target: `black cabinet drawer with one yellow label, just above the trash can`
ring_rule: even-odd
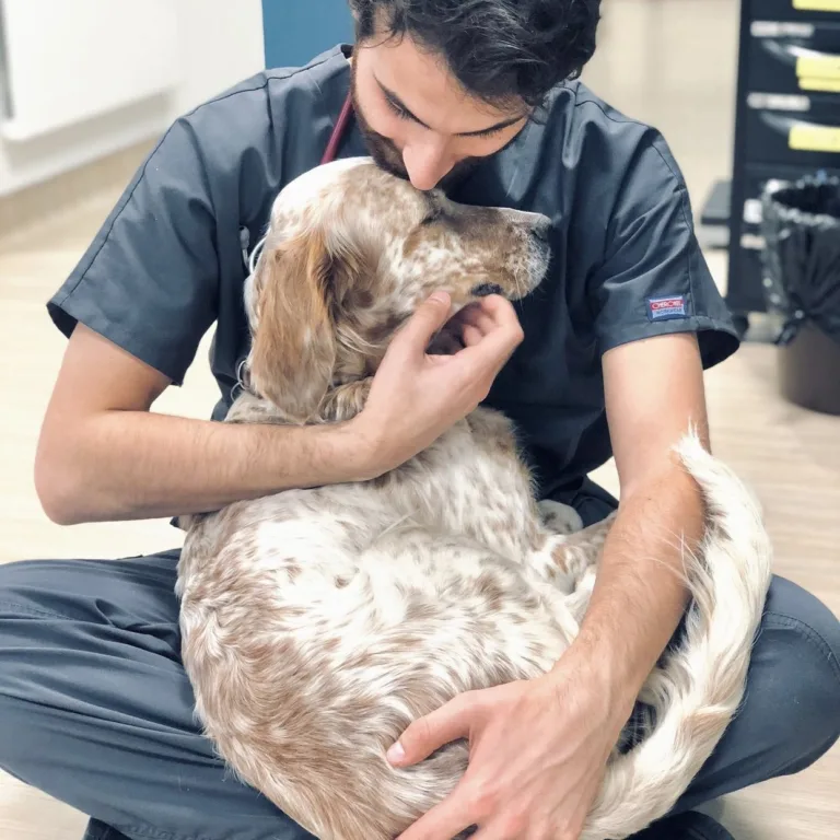
[[[840,165],[835,94],[750,93],[744,109],[745,163],[824,168]]]

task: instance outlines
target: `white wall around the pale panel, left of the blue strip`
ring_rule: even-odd
[[[155,137],[178,115],[265,66],[261,0],[170,2],[177,10],[182,80],[172,93],[26,142],[0,138],[0,196]],[[84,49],[81,33],[77,39]]]

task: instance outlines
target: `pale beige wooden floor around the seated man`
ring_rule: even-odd
[[[728,166],[736,13],[735,0],[612,0],[599,58],[587,71],[612,104],[663,129],[696,206]],[[66,218],[0,242],[0,562],[117,557],[178,544],[164,522],[59,528],[42,514],[33,488],[38,424],[63,348],[44,303],[114,199],[92,195]],[[723,283],[723,258],[709,258]],[[203,359],[202,351],[161,410],[209,415],[215,389]],[[774,376],[767,346],[745,346],[708,375],[714,446],[762,500],[777,571],[840,614],[840,419],[785,404]],[[615,489],[611,466],[596,477]],[[840,748],[795,778],[727,797],[716,812],[737,840],[840,836]],[[81,815],[0,777],[0,840],[78,840],[83,825]]]

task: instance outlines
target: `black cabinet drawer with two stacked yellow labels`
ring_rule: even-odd
[[[754,21],[747,48],[749,91],[840,93],[840,23]]]

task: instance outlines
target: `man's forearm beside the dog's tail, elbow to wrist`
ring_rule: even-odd
[[[597,663],[616,701],[631,704],[685,611],[686,551],[702,537],[703,502],[676,465],[622,500],[573,650]]]

